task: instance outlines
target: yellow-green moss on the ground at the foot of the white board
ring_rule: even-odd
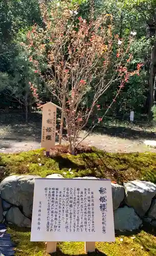
[[[46,256],[46,245],[41,242],[30,242],[30,232],[8,229],[12,234],[12,240],[16,243],[17,256]],[[134,237],[135,239],[132,239]],[[121,241],[123,239],[123,241]],[[91,256],[154,256],[156,255],[156,238],[152,233],[140,231],[130,236],[116,237],[115,243],[96,243],[97,251]],[[57,244],[57,252],[54,256],[85,256],[84,243],[82,242],[60,242]],[[48,256],[48,255],[47,255]]]

